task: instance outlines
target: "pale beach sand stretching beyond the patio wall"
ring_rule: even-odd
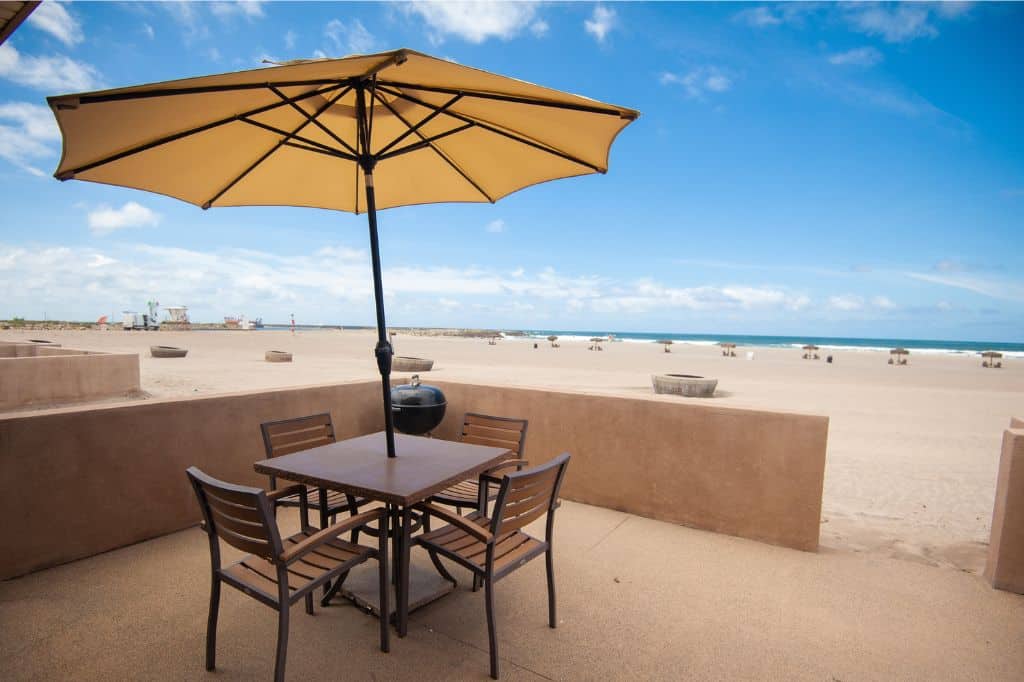
[[[50,339],[87,350],[137,352],[142,389],[152,397],[212,394],[376,378],[371,331],[17,332],[0,339]],[[906,367],[888,353],[829,351],[804,360],[783,348],[737,349],[653,343],[413,336],[398,333],[395,352],[435,360],[431,379],[496,383],[611,395],[654,396],[650,375],[719,379],[714,404],[825,415],[830,419],[821,544],[980,572],[995,494],[1002,430],[1024,416],[1024,359],[1001,370],[976,355],[911,352]],[[189,349],[184,359],[156,359],[152,344]],[[265,350],[294,353],[291,364],[263,360]],[[754,359],[745,357],[754,352]],[[826,354],[835,361],[824,361]]]

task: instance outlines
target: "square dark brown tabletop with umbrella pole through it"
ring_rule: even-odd
[[[397,457],[386,454],[384,432],[261,460],[258,473],[409,506],[515,457],[505,447],[395,434]]]

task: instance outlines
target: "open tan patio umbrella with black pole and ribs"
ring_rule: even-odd
[[[638,113],[408,49],[49,98],[63,136],[54,173],[204,209],[308,206],[370,223],[388,457],[391,345],[377,209],[494,203],[604,173]]]

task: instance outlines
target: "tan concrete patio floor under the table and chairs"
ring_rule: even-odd
[[[1024,679],[1024,597],[975,574],[569,502],[555,534],[557,630],[543,560],[497,586],[503,680]],[[268,679],[274,614],[230,588],[205,672],[208,571],[193,528],[0,583],[0,678]],[[374,619],[298,604],[289,679],[487,679],[482,594],[453,572],[459,589],[413,613],[389,654]]]

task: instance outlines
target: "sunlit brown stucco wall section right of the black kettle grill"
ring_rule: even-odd
[[[436,383],[436,382],[432,382]],[[437,383],[455,437],[466,411],[529,420],[526,459],[569,452],[562,496],[814,551],[828,419],[651,400]]]

